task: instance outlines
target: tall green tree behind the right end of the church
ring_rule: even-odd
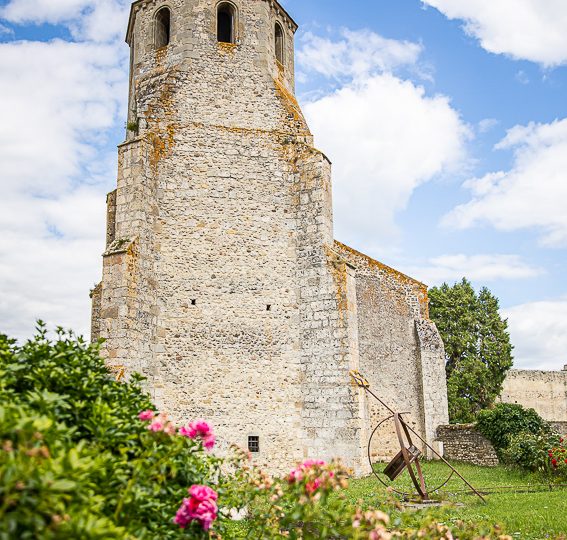
[[[452,287],[433,287],[429,298],[431,318],[445,343],[451,422],[473,422],[494,404],[512,367],[508,323],[498,299],[487,288],[477,294],[464,278]]]

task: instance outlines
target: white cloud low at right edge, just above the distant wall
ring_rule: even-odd
[[[502,310],[508,318],[516,368],[562,369],[567,364],[567,299]]]

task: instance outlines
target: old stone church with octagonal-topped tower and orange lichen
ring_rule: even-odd
[[[433,443],[448,421],[443,344],[425,285],[333,237],[331,163],[294,95],[296,30],[276,0],[132,4],[92,333],[221,447],[274,471],[340,457],[364,472],[384,411],[349,370]]]

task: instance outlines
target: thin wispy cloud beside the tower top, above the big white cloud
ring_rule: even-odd
[[[412,65],[422,51],[416,43],[386,39],[370,30],[343,29],[339,36],[332,41],[306,33],[297,53],[302,68],[325,77],[358,78]]]

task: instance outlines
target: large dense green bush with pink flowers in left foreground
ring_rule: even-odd
[[[40,326],[23,346],[0,335],[0,538],[223,533],[228,518],[211,504],[185,529],[174,519],[191,486],[239,507],[240,458],[205,451],[210,426],[180,430],[155,413],[140,380],[116,382],[98,346],[62,330],[50,341]]]

